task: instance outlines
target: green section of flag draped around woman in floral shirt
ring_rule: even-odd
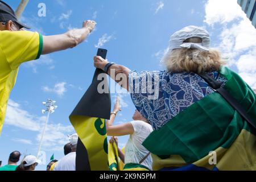
[[[243,105],[251,118],[256,118],[253,90],[230,69],[223,67],[220,73],[228,78],[225,89]],[[240,114],[220,94],[213,93],[153,131],[143,146],[160,158],[180,155],[186,163],[193,163],[218,147],[229,148],[242,129],[251,132]]]

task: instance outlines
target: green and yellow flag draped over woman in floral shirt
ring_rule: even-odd
[[[256,124],[256,96],[237,73],[219,71],[224,88]],[[177,114],[143,142],[154,170],[256,170],[255,130],[217,92]]]

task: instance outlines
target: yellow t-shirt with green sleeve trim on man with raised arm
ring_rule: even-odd
[[[19,65],[38,59],[42,49],[43,37],[38,32],[0,31],[0,134]]]

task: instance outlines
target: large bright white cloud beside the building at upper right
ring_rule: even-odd
[[[216,45],[229,65],[256,88],[256,30],[236,0],[209,0],[205,5],[205,23],[222,27]],[[213,29],[214,30],[214,29]]]

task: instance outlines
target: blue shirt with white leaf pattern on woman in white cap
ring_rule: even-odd
[[[222,86],[228,81],[217,71],[208,74],[221,81]],[[214,90],[196,73],[131,71],[129,92],[137,110],[158,130]]]

